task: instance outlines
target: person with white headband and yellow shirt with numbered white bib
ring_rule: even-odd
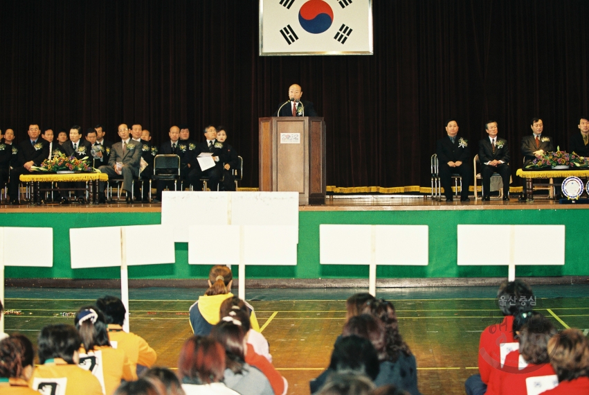
[[[105,394],[112,394],[121,380],[137,380],[129,358],[123,350],[111,347],[104,315],[94,306],[80,308],[75,315],[75,328],[82,337],[80,367],[98,378]]]

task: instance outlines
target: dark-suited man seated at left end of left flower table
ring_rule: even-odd
[[[49,143],[39,138],[39,125],[33,123],[28,126],[28,139],[21,141],[18,148],[18,163],[21,166],[10,170],[8,195],[10,204],[19,204],[19,182],[21,174],[33,173],[32,166],[39,166],[49,156]]]

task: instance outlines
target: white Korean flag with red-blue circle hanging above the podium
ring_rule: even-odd
[[[260,55],[372,55],[372,0],[260,0]]]

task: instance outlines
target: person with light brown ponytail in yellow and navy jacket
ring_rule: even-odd
[[[213,325],[219,322],[219,310],[225,299],[233,297],[231,286],[233,284],[233,273],[225,265],[215,265],[208,272],[208,290],[190,306],[190,326],[194,335],[206,336],[210,333]],[[251,327],[260,331],[260,325],[253,311],[251,310]]]

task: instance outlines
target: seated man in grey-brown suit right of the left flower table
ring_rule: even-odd
[[[118,125],[118,136],[121,141],[113,144],[108,166],[100,166],[98,170],[102,173],[107,173],[109,179],[119,174],[123,175],[123,190],[126,193],[125,201],[127,204],[132,204],[131,191],[133,177],[139,177],[139,162],[141,161],[143,148],[141,143],[131,140],[131,137],[129,137],[129,128],[125,123]],[[119,164],[120,170],[117,168],[117,164]],[[106,203],[105,187],[106,184],[102,181],[98,185],[98,191],[100,191],[98,202],[100,204]]]

